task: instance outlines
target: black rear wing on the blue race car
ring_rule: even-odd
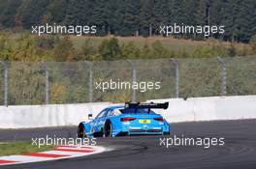
[[[161,108],[161,109],[167,109],[169,106],[169,102],[164,103],[141,103],[141,102],[125,102],[125,108],[148,108],[148,112],[151,108]]]

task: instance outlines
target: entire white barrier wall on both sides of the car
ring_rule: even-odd
[[[169,123],[256,119],[256,96],[192,99],[154,99],[169,101],[167,110],[158,110]],[[53,105],[0,106],[0,128],[77,126],[98,114],[109,102]]]

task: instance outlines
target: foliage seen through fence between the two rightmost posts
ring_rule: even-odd
[[[209,97],[220,95],[220,67],[216,59],[177,59],[180,96]]]

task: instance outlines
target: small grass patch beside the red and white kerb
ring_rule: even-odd
[[[54,149],[55,146],[32,145],[31,142],[0,144],[0,156],[3,155],[27,155],[31,153],[45,152]]]

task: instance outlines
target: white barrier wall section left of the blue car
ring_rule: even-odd
[[[61,127],[88,121],[111,103],[0,106],[0,128]]]

